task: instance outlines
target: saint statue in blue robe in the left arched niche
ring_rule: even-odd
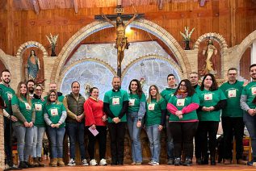
[[[27,73],[28,79],[36,79],[36,76],[40,70],[40,60],[36,56],[34,50],[31,50],[30,56],[27,58]]]

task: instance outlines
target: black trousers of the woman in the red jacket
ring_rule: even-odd
[[[86,127],[88,129],[89,127]],[[96,126],[97,131],[99,134],[94,136],[90,131],[88,131],[88,152],[90,156],[90,160],[94,159],[94,152],[95,152],[95,142],[99,140],[99,159],[104,159],[106,155],[106,140],[107,140],[107,127],[106,126]]]

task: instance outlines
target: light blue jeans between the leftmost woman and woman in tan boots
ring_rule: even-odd
[[[43,146],[43,137],[45,127],[36,127],[34,126],[34,140],[32,146],[32,156],[41,157],[42,156],[42,146]]]

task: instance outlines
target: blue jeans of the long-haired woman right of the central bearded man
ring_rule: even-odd
[[[141,163],[141,127],[136,127],[138,122],[137,112],[128,113],[127,115],[127,124],[128,131],[132,140],[132,161]]]

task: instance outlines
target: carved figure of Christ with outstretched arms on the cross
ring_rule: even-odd
[[[117,48],[117,68],[121,68],[122,60],[124,59],[124,49],[128,49],[129,43],[127,37],[125,37],[125,28],[132,23],[132,21],[136,18],[137,14],[133,15],[132,19],[130,19],[127,23],[124,24],[123,19],[118,16],[116,18],[116,23],[112,22],[110,19],[107,19],[106,15],[102,15],[107,22],[111,23],[115,26],[116,32],[116,40],[115,40],[115,48]]]

